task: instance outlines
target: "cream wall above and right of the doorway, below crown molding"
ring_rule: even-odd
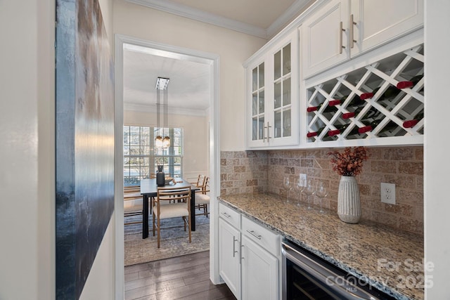
[[[220,56],[221,150],[243,150],[245,81],[242,63],[266,40],[169,13],[114,1],[114,32]]]

